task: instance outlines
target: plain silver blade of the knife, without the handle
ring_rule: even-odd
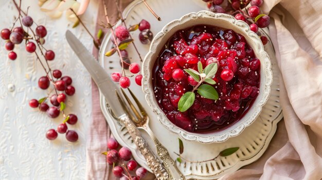
[[[79,41],[79,39],[71,33],[66,31],[66,39],[71,49],[74,50],[80,61],[83,63],[87,71],[91,74],[94,82],[98,86],[99,91],[104,95],[107,102],[113,102],[109,104],[116,117],[120,117],[125,114],[122,110],[122,106],[118,101],[115,91],[118,91],[118,87],[112,81],[110,75],[104,70],[104,68],[97,62],[93,55],[85,48],[85,46]]]

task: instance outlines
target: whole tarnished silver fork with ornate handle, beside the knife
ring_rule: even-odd
[[[145,130],[149,134],[149,136],[153,139],[157,154],[162,159],[163,165],[169,172],[170,179],[186,179],[185,176],[176,167],[175,162],[170,157],[168,150],[158,141],[158,139],[154,136],[153,132],[151,131],[149,127],[150,118],[147,112],[144,110],[144,108],[142,107],[138,99],[135,97],[133,92],[130,89],[128,90],[132,98],[134,99],[134,102],[136,103],[138,110],[133,105],[128,95],[123,91],[123,89],[121,89],[125,99],[122,96],[120,96],[118,93],[117,93],[117,96],[119,98],[119,101],[124,111],[126,111],[126,113],[129,115],[129,117],[132,119],[132,121],[134,122],[134,124],[138,129]],[[170,168],[170,166],[172,166],[173,168]]]

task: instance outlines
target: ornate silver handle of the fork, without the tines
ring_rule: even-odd
[[[151,131],[148,124],[141,126],[142,129],[144,129],[149,136],[153,139],[157,154],[163,161],[163,165],[168,170],[170,175],[172,176],[171,179],[186,179],[185,176],[180,172],[180,170],[176,167],[175,162],[170,157],[170,154],[168,150],[158,141],[158,139],[154,136],[153,132]],[[170,166],[174,168],[171,169]]]

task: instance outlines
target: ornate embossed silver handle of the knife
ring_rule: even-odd
[[[119,120],[124,123],[126,128],[129,130],[131,137],[133,138],[134,143],[136,144],[137,148],[140,150],[142,155],[146,158],[148,166],[153,171],[155,177],[158,180],[168,180],[170,179],[170,175],[159,159],[153,154],[151,149],[149,148],[148,143],[145,139],[141,136],[140,131],[134,125],[132,120],[128,115],[122,115],[119,117]]]

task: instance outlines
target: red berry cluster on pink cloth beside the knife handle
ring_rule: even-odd
[[[109,165],[113,165],[113,174],[116,177],[119,177],[121,180],[139,180],[147,174],[147,170],[145,168],[137,168],[136,161],[131,159],[131,150],[127,147],[119,148],[119,144],[114,138],[109,139],[108,148],[109,151],[104,152],[103,154],[106,155],[106,162]],[[132,176],[131,171],[134,171],[135,169],[136,176]]]

